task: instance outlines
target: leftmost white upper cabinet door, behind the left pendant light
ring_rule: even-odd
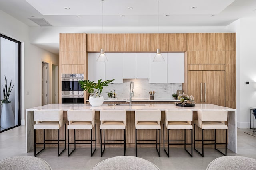
[[[105,81],[105,62],[96,61],[100,53],[88,53],[88,80]]]

